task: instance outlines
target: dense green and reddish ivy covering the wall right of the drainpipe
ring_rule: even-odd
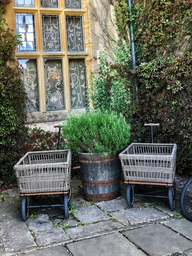
[[[132,21],[137,68],[137,124],[159,122],[156,141],[178,145],[178,171],[192,172],[192,1],[137,0],[129,16],[126,1],[115,5],[119,36]],[[120,17],[120,19],[119,19]],[[125,22],[124,22],[125,21]],[[135,102],[133,102],[133,105]],[[145,141],[145,137],[143,137]]]

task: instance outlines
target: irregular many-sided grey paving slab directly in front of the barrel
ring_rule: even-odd
[[[75,217],[81,222],[87,222],[87,224],[101,220],[109,220],[109,216],[101,211],[96,205],[79,208],[77,213],[75,213]]]

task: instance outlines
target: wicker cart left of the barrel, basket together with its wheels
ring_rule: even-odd
[[[53,150],[28,152],[14,166],[20,196],[23,220],[27,220],[29,208],[64,206],[68,219],[70,191],[71,151]],[[41,195],[59,194],[61,204],[29,205],[28,196],[37,199]]]

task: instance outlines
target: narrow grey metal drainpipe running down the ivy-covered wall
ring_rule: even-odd
[[[128,6],[131,8],[132,7],[132,0],[127,0]],[[129,14],[132,15],[131,10],[129,11]],[[136,67],[136,53],[134,49],[134,34],[133,34],[133,27],[132,27],[132,22],[129,22],[129,32],[130,32],[130,46],[131,46],[131,58],[132,58],[132,67]],[[136,97],[135,99],[138,101],[138,86],[137,84],[135,85],[136,89]]]

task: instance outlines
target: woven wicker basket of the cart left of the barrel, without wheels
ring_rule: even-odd
[[[20,193],[67,191],[70,187],[71,151],[28,152],[14,166]]]

